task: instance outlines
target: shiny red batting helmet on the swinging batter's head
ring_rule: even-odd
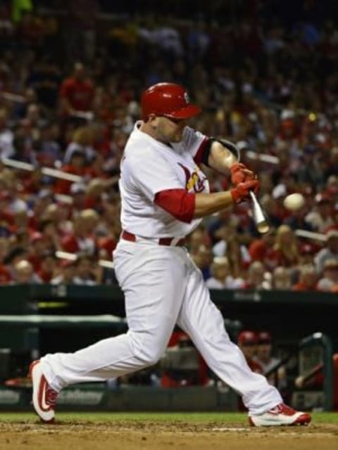
[[[201,113],[201,108],[190,103],[187,90],[180,84],[158,83],[150,86],[141,98],[142,119],[149,114],[173,119],[189,119]]]

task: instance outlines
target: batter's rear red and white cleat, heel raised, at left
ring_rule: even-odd
[[[39,360],[30,364],[28,377],[32,379],[33,406],[39,418],[45,423],[54,421],[55,404],[58,392],[52,389],[42,373]]]

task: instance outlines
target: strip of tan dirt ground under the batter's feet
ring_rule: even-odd
[[[0,450],[337,450],[338,424],[308,427],[184,423],[0,423]]]

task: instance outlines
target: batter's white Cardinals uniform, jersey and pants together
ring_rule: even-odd
[[[181,143],[166,146],[135,125],[121,162],[123,229],[135,242],[120,239],[114,252],[115,274],[125,294],[129,330],[75,353],[48,354],[42,371],[59,391],[72,383],[118,377],[161,358],[177,323],[201,352],[208,366],[236,392],[253,414],[282,402],[267,380],[253,373],[227,335],[223,317],[211,302],[201,271],[187,249],[175,246],[200,219],[184,223],[154,204],[167,189],[208,192],[208,181],[194,158],[206,136],[186,127]],[[174,238],[159,245],[159,238]]]

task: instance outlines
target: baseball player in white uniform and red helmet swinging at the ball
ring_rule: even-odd
[[[125,146],[120,195],[123,231],[113,254],[125,294],[129,330],[75,353],[47,354],[30,365],[33,405],[54,420],[56,397],[73,383],[103,381],[155,364],[177,323],[224,383],[242,395],[251,425],[307,424],[307,413],[282,403],[280,393],[253,373],[230,342],[184,238],[201,222],[258,190],[256,176],[237,162],[236,147],[188,126],[201,110],[178,84],[144,91],[142,120]],[[209,193],[201,163],[230,174],[230,191]]]

